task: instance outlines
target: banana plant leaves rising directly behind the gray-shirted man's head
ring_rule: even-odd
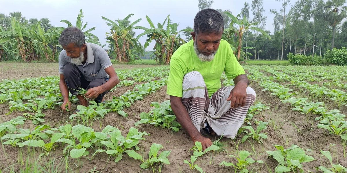
[[[77,19],[76,19],[76,25],[75,27],[78,28],[78,29],[81,29],[84,33],[84,35],[87,37],[87,41],[89,42],[89,40],[92,40],[93,42],[99,42],[99,38],[97,36],[95,36],[94,34],[90,33],[91,31],[95,30],[96,27],[93,27],[93,28],[90,28],[90,29],[87,29],[86,30],[86,27],[87,27],[87,24],[88,22],[86,22],[84,25],[83,25],[83,12],[82,12],[82,9],[79,10],[79,13],[77,15]],[[73,25],[71,24],[70,21],[68,20],[60,20],[60,22],[64,22],[67,24],[67,27],[72,27]],[[100,44],[100,43],[99,43]]]

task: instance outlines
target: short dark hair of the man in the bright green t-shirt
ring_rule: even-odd
[[[194,32],[198,33],[220,33],[224,30],[223,17],[220,12],[206,8],[199,11],[194,18]]]

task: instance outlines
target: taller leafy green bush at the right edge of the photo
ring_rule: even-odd
[[[324,55],[324,58],[326,58],[330,63],[336,65],[347,65],[347,48],[342,47],[341,49],[328,49]]]

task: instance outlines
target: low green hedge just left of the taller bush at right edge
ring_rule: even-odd
[[[292,53],[289,53],[287,57],[289,63],[295,65],[325,65],[327,63],[327,60],[325,58],[317,55],[314,55],[312,57],[305,55],[294,55]]]

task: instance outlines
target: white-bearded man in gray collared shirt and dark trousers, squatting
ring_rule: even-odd
[[[83,106],[88,106],[85,98],[102,102],[104,95],[119,83],[107,52],[97,44],[85,42],[83,32],[76,27],[64,29],[59,44],[64,49],[59,55],[59,87],[64,99],[61,109],[66,110],[66,105],[71,108],[69,91]],[[87,93],[77,94],[81,88]]]

